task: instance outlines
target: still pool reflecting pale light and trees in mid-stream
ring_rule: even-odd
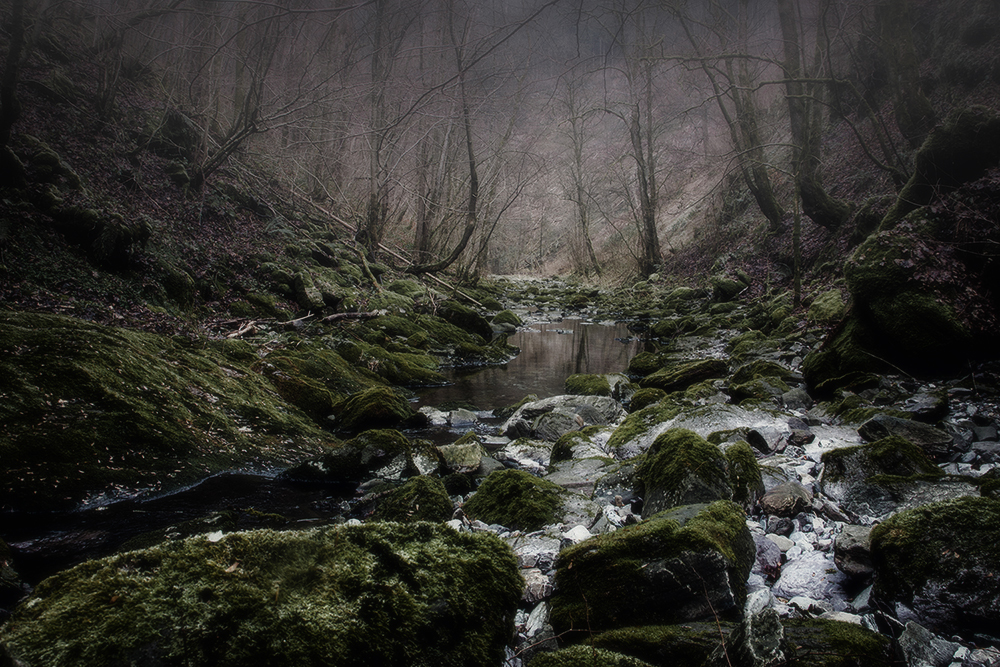
[[[449,384],[420,390],[419,404],[440,406],[463,402],[480,410],[510,405],[528,394],[539,398],[564,393],[575,373],[620,373],[642,350],[624,324],[582,319],[539,322],[513,334],[509,342],[521,354],[505,366],[456,369]]]

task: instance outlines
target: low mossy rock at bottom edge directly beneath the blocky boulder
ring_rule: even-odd
[[[603,632],[594,637],[594,646],[654,665],[702,665],[731,633],[726,622],[649,625]]]

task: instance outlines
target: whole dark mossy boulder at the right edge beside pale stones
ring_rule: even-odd
[[[959,498],[900,512],[871,533],[876,599],[940,635],[996,636],[1000,501]]]

